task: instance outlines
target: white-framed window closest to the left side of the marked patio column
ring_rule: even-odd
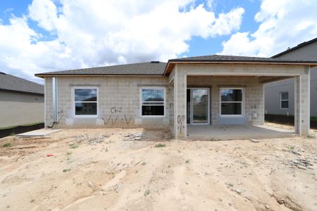
[[[164,116],[165,112],[165,88],[142,87],[141,88],[141,115]]]

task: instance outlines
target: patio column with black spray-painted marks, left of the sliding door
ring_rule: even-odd
[[[175,139],[187,138],[186,91],[187,75],[175,65]]]

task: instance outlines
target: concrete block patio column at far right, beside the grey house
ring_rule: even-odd
[[[295,84],[295,132],[299,136],[308,136],[310,129],[310,75],[309,66],[304,74],[294,77]]]

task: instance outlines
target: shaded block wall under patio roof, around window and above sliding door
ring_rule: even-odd
[[[263,84],[254,77],[187,77],[187,87],[210,89],[211,124],[263,124]],[[241,117],[220,115],[220,88],[242,88],[244,103]],[[256,117],[253,116],[256,113]]]

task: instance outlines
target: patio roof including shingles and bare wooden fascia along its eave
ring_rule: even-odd
[[[177,63],[213,63],[213,64],[282,64],[282,65],[311,65],[316,66],[317,61],[314,60],[294,60],[287,58],[264,58],[264,57],[249,57],[249,56],[194,56],[187,58],[175,58],[168,60],[165,74],[168,74]]]

